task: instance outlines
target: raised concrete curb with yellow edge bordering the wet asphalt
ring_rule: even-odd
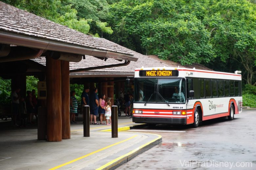
[[[130,151],[129,153],[127,153],[123,156],[120,156],[117,159],[114,159],[113,161],[106,163],[105,165],[102,165],[101,167],[97,168],[96,170],[107,170],[107,169],[114,170],[117,167],[119,167],[120,165],[130,161],[131,159],[138,156],[139,154],[145,152],[146,150],[148,150],[148,149],[152,148],[153,146],[162,142],[162,136],[157,135],[157,134],[152,134],[152,135],[156,135],[158,137],[146,144],[143,144],[143,145],[137,147],[136,149]]]

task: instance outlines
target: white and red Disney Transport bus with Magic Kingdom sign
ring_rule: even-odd
[[[139,68],[134,77],[133,122],[189,125],[242,112],[241,71]]]

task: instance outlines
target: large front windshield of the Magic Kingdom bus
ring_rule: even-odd
[[[134,86],[134,102],[185,102],[185,80],[182,78],[135,78]]]

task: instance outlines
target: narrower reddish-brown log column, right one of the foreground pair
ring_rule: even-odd
[[[62,139],[70,139],[70,81],[69,61],[61,60],[61,119]]]

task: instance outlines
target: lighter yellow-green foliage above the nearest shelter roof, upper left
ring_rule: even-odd
[[[108,4],[105,0],[1,0],[17,8],[27,10],[33,14],[49,19],[69,28],[89,33],[92,21],[96,23],[100,32],[112,34],[111,27],[100,19],[106,17]],[[90,10],[88,10],[90,9]],[[77,12],[78,10],[78,12]],[[101,16],[101,17],[98,17]],[[96,34],[93,33],[93,34]]]

